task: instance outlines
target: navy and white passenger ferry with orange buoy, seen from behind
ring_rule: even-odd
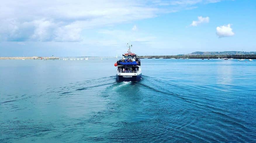
[[[132,45],[127,43],[128,53],[123,54],[123,58],[114,65],[117,67],[117,81],[140,81],[141,61],[135,53],[131,52]]]

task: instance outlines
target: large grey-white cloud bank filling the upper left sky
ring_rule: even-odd
[[[199,3],[203,2],[201,0],[176,0],[173,3],[165,0],[1,1],[0,40],[79,42],[83,40],[82,31],[87,29],[153,18],[163,13],[188,9]]]

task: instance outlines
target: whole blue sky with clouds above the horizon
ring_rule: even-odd
[[[139,56],[256,51],[254,0],[12,0],[0,56]]]

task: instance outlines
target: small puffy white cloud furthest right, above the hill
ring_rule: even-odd
[[[235,35],[235,33],[232,31],[232,28],[230,27],[231,24],[218,26],[216,28],[216,34],[219,36],[219,38],[222,37],[230,37]]]

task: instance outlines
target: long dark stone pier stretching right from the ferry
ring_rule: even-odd
[[[256,55],[173,55],[173,56],[138,56],[138,58],[191,58],[191,59],[207,59],[207,58],[234,58],[234,59],[256,59]]]

